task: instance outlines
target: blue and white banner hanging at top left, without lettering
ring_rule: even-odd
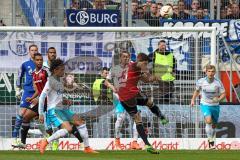
[[[30,26],[43,25],[45,0],[20,0],[19,3]]]

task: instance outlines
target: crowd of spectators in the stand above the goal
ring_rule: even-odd
[[[172,7],[173,15],[168,19],[210,19],[210,0],[132,0],[132,19],[143,19],[150,26],[158,26],[163,6]],[[214,2],[215,18],[217,0]],[[221,0],[221,19],[240,18],[238,0]],[[117,0],[72,0],[71,9],[121,9]],[[126,6],[127,10],[127,6]]]

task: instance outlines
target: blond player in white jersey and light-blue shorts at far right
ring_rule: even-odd
[[[196,90],[191,100],[191,106],[194,106],[195,99],[201,94],[200,107],[206,123],[205,131],[208,137],[209,149],[215,149],[215,128],[220,112],[219,102],[226,95],[222,82],[214,77],[215,73],[215,66],[206,66],[207,76],[197,81]]]

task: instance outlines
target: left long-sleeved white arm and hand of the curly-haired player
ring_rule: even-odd
[[[43,123],[44,122],[44,104],[45,104],[45,99],[47,97],[47,94],[49,92],[49,81],[45,84],[43,91],[39,97],[39,102],[38,102],[38,113],[39,113],[39,122]]]

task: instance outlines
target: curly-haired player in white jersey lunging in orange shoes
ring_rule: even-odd
[[[71,101],[64,99],[64,86],[61,80],[64,76],[64,63],[60,59],[53,60],[50,66],[52,75],[49,77],[47,83],[39,98],[39,121],[44,122],[44,101],[47,97],[47,118],[55,127],[60,128],[47,139],[40,141],[40,153],[43,154],[47,145],[53,140],[65,137],[68,133],[72,132],[72,126],[77,126],[77,129],[83,138],[84,152],[97,153],[89,147],[88,131],[86,124],[83,120],[79,119],[78,115],[70,111],[69,106]]]

